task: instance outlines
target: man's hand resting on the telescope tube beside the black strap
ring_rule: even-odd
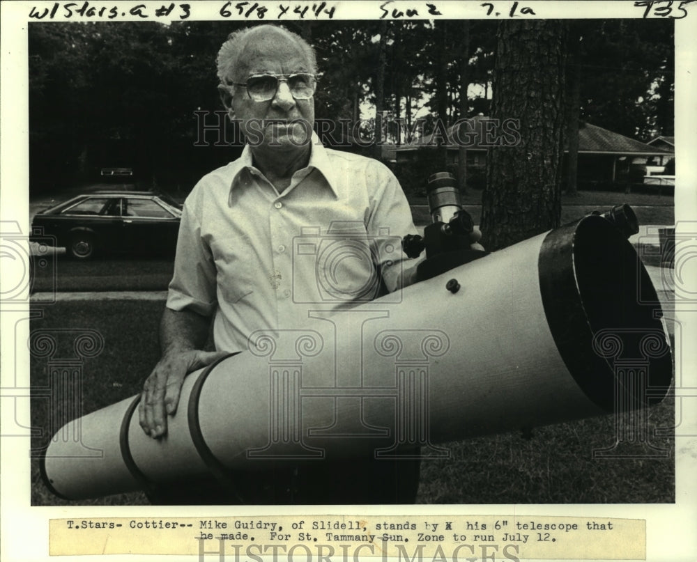
[[[146,435],[157,439],[167,433],[167,415],[174,415],[184,377],[228,355],[220,351],[190,350],[165,354],[143,385],[138,415]]]

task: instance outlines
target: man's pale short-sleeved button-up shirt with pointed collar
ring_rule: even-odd
[[[260,329],[293,329],[307,311],[394,291],[415,234],[397,178],[384,164],[324,148],[279,194],[239,159],[202,178],[184,203],[167,307],[215,315],[218,350],[245,350]]]

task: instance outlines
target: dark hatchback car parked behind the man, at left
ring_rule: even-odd
[[[98,191],[37,213],[31,227],[79,260],[102,251],[173,256],[180,220],[181,205],[164,194]]]

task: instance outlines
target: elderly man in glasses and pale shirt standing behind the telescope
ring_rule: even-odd
[[[162,359],[144,384],[139,408],[141,426],[153,438],[166,434],[187,373],[246,350],[255,330],[301,325],[293,290],[317,290],[314,263],[291,263],[293,237],[303,227],[325,233],[338,224],[349,235],[376,240],[374,263],[355,260],[358,270],[339,276],[346,300],[358,295],[370,273],[360,267],[376,268],[388,290],[398,288],[406,256],[399,249],[395,255],[394,246],[388,253],[380,235],[416,232],[404,193],[383,164],[324,148],[312,134],[316,60],[299,36],[269,25],[232,33],[217,70],[222,102],[247,143],[238,160],[206,175],[184,205],[160,329]],[[210,322],[215,352],[202,350]],[[231,480],[236,490],[175,483],[151,500],[408,503],[418,487],[418,461],[325,460]]]

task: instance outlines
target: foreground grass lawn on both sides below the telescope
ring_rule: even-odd
[[[144,378],[158,360],[157,328],[162,302],[100,301],[59,302],[34,306],[43,318],[32,330],[54,330],[55,358],[73,357],[75,333],[56,329],[95,329],[105,341],[104,350],[82,365],[82,414],[105,407],[139,392]],[[47,359],[31,361],[34,386],[47,384]],[[479,437],[447,444],[450,458],[425,460],[418,501],[443,504],[526,503],[656,503],[675,501],[673,439],[653,437],[655,428],[672,428],[673,400],[651,410],[649,442],[663,448],[667,458],[594,458],[593,451],[615,443],[614,416],[602,416],[522,432]],[[54,428],[49,426],[47,400],[33,398],[32,425],[42,428],[32,446],[40,449],[54,430],[70,419],[61,403]],[[668,431],[668,435],[671,432]],[[624,449],[622,449],[624,451]],[[626,452],[626,451],[625,451]],[[57,499],[43,485],[38,461],[31,460],[31,501],[47,505],[140,505],[141,493],[122,494],[89,501]]]

